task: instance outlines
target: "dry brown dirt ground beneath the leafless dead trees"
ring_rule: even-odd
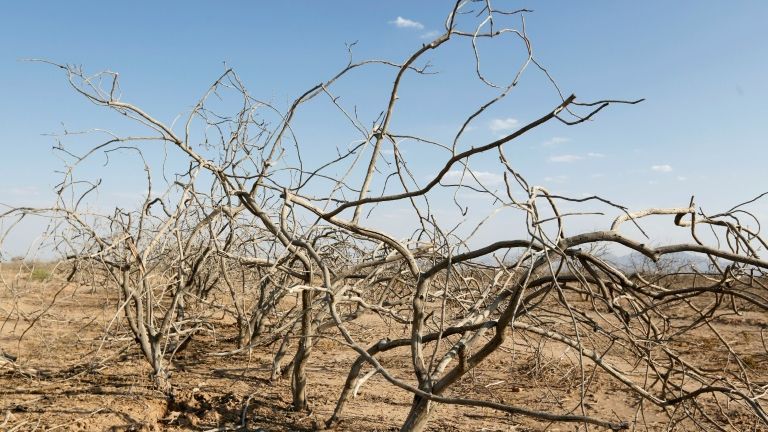
[[[115,297],[99,287],[64,285],[4,267],[0,288],[0,430],[205,431],[315,430],[331,415],[354,353],[333,338],[321,339],[312,353],[309,397],[312,413],[290,409],[288,378],[269,380],[275,347],[231,356],[213,352],[234,348],[234,326],[223,322],[215,333],[193,339],[172,364],[177,402],[170,405],[149,378],[149,366],[127,332],[115,331]],[[34,279],[34,278],[33,278]],[[38,279],[40,279],[38,277]],[[404,329],[382,328],[381,321],[363,317],[356,336],[374,343],[382,335]],[[768,357],[760,331],[768,328],[765,314],[745,313],[717,322],[732,346],[752,353],[752,367],[768,381]],[[111,337],[104,338],[104,330]],[[692,338],[687,348],[701,358],[713,352],[710,336]],[[510,343],[520,343],[512,341]],[[574,356],[575,357],[575,356]],[[506,346],[452,394],[516,404],[533,409],[565,411],[575,406],[581,376],[567,352],[547,352],[532,364],[525,350]],[[15,361],[10,361],[15,359]],[[382,363],[395,375],[409,378],[407,348],[386,353]],[[638,430],[664,430],[667,421],[600,373],[590,378],[586,394],[589,414],[609,420],[644,415]],[[398,430],[411,396],[376,375],[350,399],[341,431]],[[480,408],[437,405],[430,430],[529,431],[575,430],[577,426],[536,422]],[[756,430],[754,419],[736,417],[733,430]],[[598,428],[594,428],[595,430]],[[685,430],[684,428],[678,430]],[[757,427],[759,429],[759,426]],[[763,429],[765,430],[765,429]]]

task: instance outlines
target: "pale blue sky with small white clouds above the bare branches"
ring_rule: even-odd
[[[564,92],[582,100],[646,98],[639,105],[611,107],[589,124],[551,124],[509,147],[513,164],[533,183],[573,196],[600,194],[632,208],[684,206],[696,195],[712,213],[768,190],[768,3],[496,5],[534,10],[526,19],[534,54]],[[170,122],[195,103],[223,62],[237,70],[252,93],[285,106],[344,65],[345,43],[358,42],[358,59],[402,61],[429,32],[441,28],[449,8],[449,2],[437,1],[351,0],[5,4],[0,15],[0,203],[50,202],[60,161],[50,151],[53,139],[44,134],[60,132],[62,124],[68,130],[124,124],[74,95],[54,68],[22,59],[117,71],[126,100]],[[416,24],[398,26],[398,17]],[[485,70],[492,78],[508,79],[520,53],[511,39],[483,46]],[[473,68],[468,47],[451,48],[432,60],[441,75],[406,81],[393,124],[444,140],[484,93],[477,85],[463,85]],[[386,102],[382,96],[391,79],[389,71],[373,71],[343,83],[339,93],[349,95],[350,106],[358,105],[372,120]],[[478,120],[471,140],[492,139],[505,126],[534,119],[557,104],[556,94],[534,71],[515,92]],[[310,108],[301,119],[302,127],[313,131],[317,151],[326,143],[350,140],[323,127],[327,115]],[[416,157],[419,150],[412,151]],[[484,163],[473,169],[498,172]],[[417,167],[425,173],[430,169],[428,162]],[[137,169],[113,168],[117,176]],[[105,186],[113,198],[138,187],[130,181]],[[752,208],[766,219],[768,206]],[[14,241],[18,247],[28,240]]]

